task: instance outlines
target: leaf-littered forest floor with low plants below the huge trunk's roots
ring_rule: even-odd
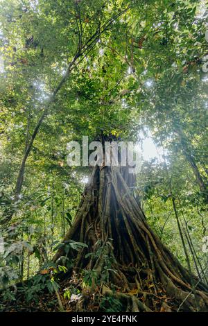
[[[15,293],[15,300],[4,299],[1,302],[1,312],[138,312],[132,309],[132,305],[126,306],[123,304],[122,299],[116,299],[117,295],[129,295],[129,298],[138,298],[141,302],[146,301],[146,295],[137,293],[137,289],[131,289],[130,292],[117,290],[114,295],[106,295],[105,290],[109,289],[107,286],[97,286],[94,293],[82,289],[80,280],[64,280],[60,282],[58,296],[57,293],[50,293],[46,289],[35,293],[31,300],[26,300],[26,287],[25,291]],[[76,289],[78,295],[70,295],[66,297],[67,289]],[[59,297],[59,298],[58,298]],[[157,297],[157,298],[156,298]],[[60,302],[62,308],[60,308]],[[3,303],[2,303],[3,302]],[[164,304],[164,302],[166,302]],[[169,298],[166,293],[158,293],[155,296],[155,307],[151,307],[155,312],[176,312],[180,302],[176,305],[175,298]],[[139,310],[140,311],[140,310]]]

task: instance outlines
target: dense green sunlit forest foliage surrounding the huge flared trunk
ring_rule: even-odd
[[[139,141],[131,194],[150,228],[208,285],[206,31],[206,1],[0,1],[1,311],[78,301],[80,284],[59,278],[70,255],[58,267],[52,259],[92,173],[67,165],[67,143],[82,144],[83,135]],[[83,246],[69,242],[67,255]],[[92,281],[93,271],[83,271],[83,288]],[[103,295],[96,309],[123,308]]]

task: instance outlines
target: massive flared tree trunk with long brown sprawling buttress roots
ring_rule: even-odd
[[[88,246],[78,254],[71,252],[74,270],[78,274],[83,269],[93,270],[103,295],[112,295],[111,289],[116,289],[114,295],[126,302],[128,309],[131,302],[131,311],[174,311],[177,307],[206,311],[207,286],[190,275],[150,230],[130,191],[134,186],[135,177],[127,167],[94,167],[76,218],[64,237],[65,242],[71,239]],[[63,247],[53,260],[62,256]],[[109,276],[105,284],[103,271]],[[92,286],[90,291],[94,289]]]

